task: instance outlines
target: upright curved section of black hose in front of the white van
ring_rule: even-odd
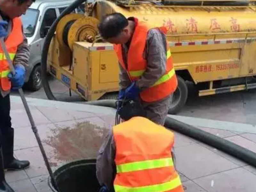
[[[54,95],[52,94],[51,88],[49,86],[49,82],[47,79],[47,57],[48,57],[48,50],[49,46],[52,40],[52,37],[55,33],[57,24],[59,23],[60,19],[64,17],[65,15],[71,13],[76,7],[78,7],[80,4],[84,3],[87,0],[76,0],[73,2],[70,6],[68,6],[63,12],[61,12],[60,16],[53,22],[51,28],[49,29],[45,41],[44,41],[44,47],[42,51],[42,61],[41,61],[41,76],[42,76],[42,84],[44,86],[44,91],[49,100],[56,100]]]

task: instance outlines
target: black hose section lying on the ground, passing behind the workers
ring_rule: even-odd
[[[116,100],[90,101],[90,102],[85,102],[85,104],[115,108]],[[176,119],[173,119],[171,117],[166,118],[164,126],[167,129],[179,132],[188,137],[191,137],[198,141],[201,141],[207,145],[210,145],[214,148],[217,148],[221,151],[224,151],[225,153],[227,153],[231,156],[234,156],[234,157],[256,167],[256,153],[254,153],[246,148],[243,148],[239,145],[236,145],[233,142],[222,139],[222,138],[220,138],[216,135],[213,135],[209,132],[205,132],[205,131],[198,129],[192,125],[182,123],[182,122],[180,122]]]

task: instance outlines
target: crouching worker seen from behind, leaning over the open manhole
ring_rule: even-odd
[[[138,102],[125,102],[118,113],[125,122],[110,130],[97,157],[100,192],[184,192],[172,158],[174,134],[145,118]]]

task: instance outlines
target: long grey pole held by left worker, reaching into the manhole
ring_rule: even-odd
[[[7,61],[8,61],[8,63],[9,63],[9,68],[10,68],[10,70],[11,70],[11,73],[14,75],[14,74],[15,74],[15,70],[14,70],[14,67],[13,67],[12,60],[11,60],[11,58],[10,58],[10,55],[9,55],[9,53],[7,52],[7,49],[6,49],[6,45],[5,45],[5,43],[4,43],[4,37],[0,38],[0,44],[1,44],[1,47],[2,47],[2,49],[3,49],[3,51],[4,51],[4,55],[5,55],[5,57],[6,57]],[[52,182],[53,182],[53,185],[54,185],[55,189],[58,190],[58,186],[57,186],[56,180],[55,180],[55,178],[54,178],[54,176],[53,176],[51,166],[50,166],[49,161],[48,161],[48,159],[47,159],[47,156],[46,156],[44,147],[43,147],[42,142],[41,142],[41,139],[40,139],[40,137],[39,137],[39,134],[38,134],[38,131],[37,131],[37,128],[36,128],[36,124],[35,124],[35,122],[34,122],[34,119],[33,119],[32,115],[31,115],[30,109],[29,109],[29,107],[28,107],[27,100],[26,100],[25,95],[24,95],[24,93],[23,93],[23,90],[22,90],[22,88],[20,88],[18,91],[19,91],[19,93],[20,93],[20,98],[21,98],[21,100],[22,100],[22,103],[23,103],[23,105],[24,105],[24,108],[25,108],[25,110],[26,110],[26,112],[27,112],[28,119],[29,119],[29,122],[30,122],[30,124],[31,124],[32,131],[35,133],[37,143],[38,143],[39,148],[40,148],[40,150],[41,150],[41,153],[42,153],[42,155],[43,155],[44,163],[45,163],[45,165],[46,165],[46,167],[47,167],[47,169],[48,169],[48,172],[49,172],[49,174],[50,174],[50,177],[51,177],[51,179],[52,179]],[[59,191],[59,190],[58,190],[58,191]],[[60,191],[59,191],[59,192],[60,192]]]

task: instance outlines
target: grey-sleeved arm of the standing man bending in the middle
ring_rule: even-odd
[[[166,71],[166,36],[157,28],[150,29],[145,49],[147,68],[136,83],[140,90],[155,84]]]

